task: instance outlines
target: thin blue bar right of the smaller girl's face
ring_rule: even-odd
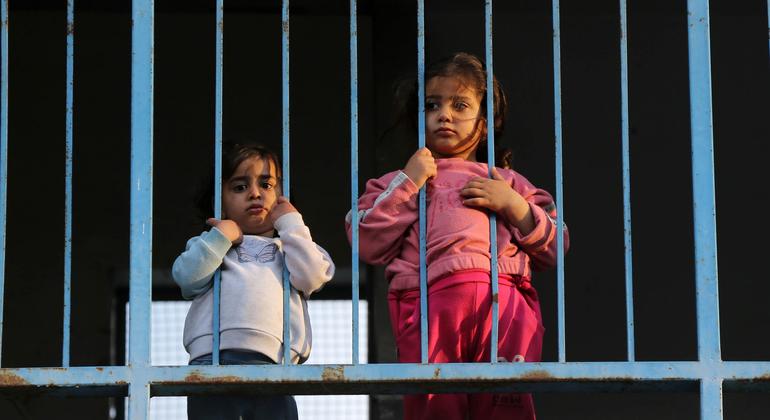
[[[281,7],[281,58],[282,58],[282,86],[283,86],[283,195],[288,199],[290,197],[289,182],[290,175],[290,146],[289,146],[289,0],[282,0]],[[290,312],[289,312],[289,293],[291,284],[289,283],[289,270],[284,264],[283,267],[283,364],[291,362],[291,334],[289,330]]]

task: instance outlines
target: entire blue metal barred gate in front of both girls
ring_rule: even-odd
[[[709,45],[709,10],[707,0],[688,1],[688,40],[690,75],[690,114],[692,132],[693,211],[697,290],[698,359],[679,362],[638,362],[635,360],[634,316],[631,267],[630,169],[628,140],[628,76],[626,4],[620,0],[620,51],[622,93],[622,150],[626,258],[626,311],[628,356],[622,362],[568,362],[566,360],[564,320],[564,252],[559,243],[558,254],[558,361],[543,363],[496,363],[496,346],[492,346],[491,363],[430,364],[427,362],[427,319],[425,264],[421,264],[422,363],[419,364],[361,364],[358,349],[359,262],[357,212],[353,211],[352,305],[353,360],[349,365],[309,366],[220,366],[218,350],[214,366],[153,367],[150,362],[150,303],[152,273],[152,194],[153,194],[153,0],[133,1],[132,27],[132,88],[131,88],[131,244],[130,244],[130,326],[129,356],[126,366],[70,366],[70,263],[72,218],[72,115],[73,115],[73,50],[74,5],[68,2],[67,31],[67,104],[66,104],[66,212],[65,212],[65,275],[64,325],[62,363],[50,368],[0,368],[0,389],[37,392],[49,389],[54,393],[99,395],[128,395],[132,419],[144,419],[149,414],[150,396],[205,393],[216,388],[247,389],[253,392],[269,390],[293,394],[338,393],[412,393],[449,391],[569,391],[575,389],[621,390],[673,389],[698,390],[701,395],[701,418],[722,418],[722,390],[750,384],[770,383],[770,362],[724,362],[721,358],[719,335],[719,299],[717,282],[716,219],[714,193],[714,162],[712,133],[712,98]],[[356,1],[350,2],[350,112],[351,112],[351,206],[356,209],[358,187],[358,30]],[[8,164],[8,1],[2,1],[2,103],[0,108],[0,226],[3,252],[0,252],[0,273],[5,267],[5,226]],[[221,159],[222,144],[222,68],[223,68],[223,0],[217,0],[216,15],[216,105],[215,159]],[[417,2],[418,37],[417,63],[420,95],[424,95],[424,5]],[[289,196],[289,2],[283,1],[283,156],[284,193]],[[486,62],[493,69],[492,1],[486,1]],[[559,1],[553,0],[554,109],[556,150],[556,201],[563,214],[562,191],[562,131],[560,76]],[[492,78],[488,77],[489,83]],[[491,86],[489,87],[491,90]],[[423,102],[422,96],[420,102]],[[486,106],[492,107],[492,95]],[[420,146],[424,145],[424,111],[421,111]],[[490,130],[490,154],[494,151],[494,133]],[[490,156],[490,160],[492,157]],[[215,185],[221,186],[221,170],[217,165]],[[215,194],[218,196],[219,191]],[[425,194],[420,193],[421,258],[424,261]],[[568,203],[567,203],[568,204]],[[217,216],[220,209],[216,210]],[[494,217],[494,216],[491,216]],[[491,223],[491,226],[495,226]],[[559,224],[557,238],[563,236]],[[491,235],[495,232],[492,230]],[[492,240],[492,244],[496,241]],[[496,256],[496,252],[492,252]],[[497,264],[492,264],[493,270]],[[493,274],[494,278],[494,274]],[[288,285],[288,279],[285,279]],[[4,276],[0,277],[0,317]],[[219,281],[215,280],[215,292]],[[288,287],[284,295],[284,322],[288,323]],[[493,293],[496,285],[493,284]],[[216,301],[215,305],[218,305]],[[218,311],[214,312],[215,314]],[[493,306],[497,314],[497,304]],[[215,327],[218,319],[215,316]],[[2,344],[0,318],[0,345]],[[285,324],[286,325],[286,324]],[[289,329],[284,328],[287,334]],[[493,323],[493,343],[497,326]],[[215,343],[218,336],[214,335]],[[287,337],[284,337],[287,341]],[[1,347],[0,347],[1,348]],[[217,345],[214,346],[218,348]],[[288,352],[288,348],[285,350]],[[285,354],[284,360],[289,360]]]

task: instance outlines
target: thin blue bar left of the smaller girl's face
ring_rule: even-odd
[[[214,76],[214,217],[222,217],[222,66],[224,61],[224,0],[217,0],[216,64]],[[219,303],[222,273],[214,272],[214,304],[211,316],[211,364],[219,364]]]

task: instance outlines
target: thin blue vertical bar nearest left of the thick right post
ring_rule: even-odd
[[[634,344],[634,283],[631,241],[631,160],[628,139],[628,7],[620,0],[620,126],[623,143],[623,244],[626,250],[626,347],[628,360],[636,359]]]

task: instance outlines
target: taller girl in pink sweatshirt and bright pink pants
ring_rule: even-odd
[[[489,362],[488,212],[497,214],[498,360],[540,360],[543,325],[531,269],[556,262],[553,198],[510,169],[487,177],[486,70],[458,53],[426,70],[425,143],[404,169],[370,180],[358,202],[361,258],[386,265],[391,325],[401,362],[420,362],[419,189],[427,184],[428,360]],[[493,127],[505,95],[494,81]],[[416,105],[416,87],[409,95]],[[407,112],[416,115],[415,110]],[[510,168],[510,163],[498,163]],[[346,218],[348,236],[350,214]],[[567,234],[565,230],[565,247]],[[405,419],[534,419],[529,394],[404,397]]]

